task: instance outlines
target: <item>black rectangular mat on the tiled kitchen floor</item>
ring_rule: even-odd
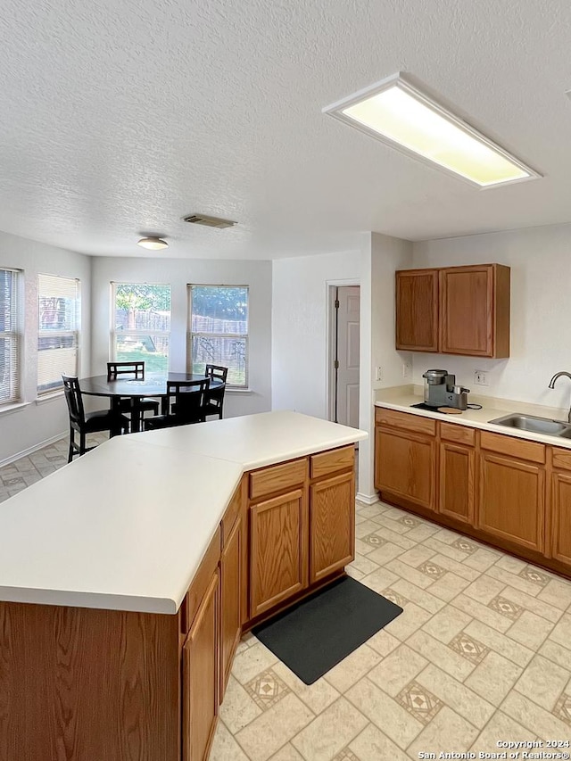
[[[252,631],[302,682],[312,684],[401,613],[347,576]]]

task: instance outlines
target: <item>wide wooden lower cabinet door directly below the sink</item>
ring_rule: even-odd
[[[483,451],[478,528],[542,552],[544,522],[545,469]]]

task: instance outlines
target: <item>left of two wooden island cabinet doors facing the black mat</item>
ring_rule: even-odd
[[[250,616],[308,584],[308,515],[303,489],[250,508]]]

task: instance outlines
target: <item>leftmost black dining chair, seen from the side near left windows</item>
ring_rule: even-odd
[[[71,462],[76,454],[81,456],[87,451],[95,449],[95,447],[86,446],[87,434],[96,434],[101,431],[109,431],[111,435],[114,435],[116,431],[120,431],[121,434],[128,432],[128,418],[112,409],[85,412],[77,376],[62,376],[62,380],[63,393],[65,393],[65,401],[67,401],[68,412],[70,413],[68,462]],[[76,432],[79,434],[79,444],[75,440]]]

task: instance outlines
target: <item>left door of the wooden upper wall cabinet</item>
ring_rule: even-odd
[[[396,272],[396,348],[438,351],[438,270]]]

